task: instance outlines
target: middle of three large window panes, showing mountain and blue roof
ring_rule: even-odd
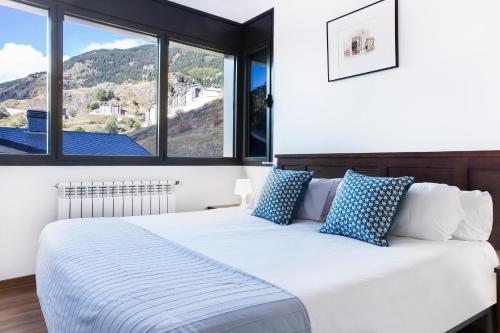
[[[64,21],[63,152],[157,155],[158,39]]]

